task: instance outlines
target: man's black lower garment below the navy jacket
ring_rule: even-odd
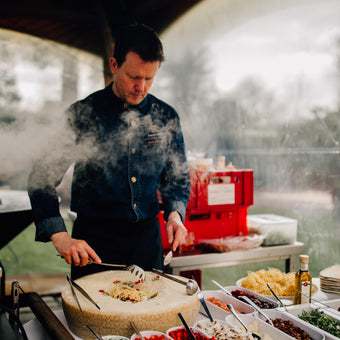
[[[144,270],[163,269],[162,238],[157,217],[131,223],[116,219],[97,219],[78,216],[72,237],[85,240],[104,263],[136,264]],[[97,264],[71,266],[71,276],[112,270]]]

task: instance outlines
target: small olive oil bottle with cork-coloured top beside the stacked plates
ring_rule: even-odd
[[[294,304],[310,303],[312,297],[312,275],[308,271],[309,256],[300,255],[300,270],[295,274]]]

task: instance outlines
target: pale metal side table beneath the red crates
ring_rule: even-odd
[[[257,247],[249,250],[233,250],[226,253],[195,254],[173,257],[170,271],[179,275],[181,271],[203,268],[235,266],[253,262],[285,260],[286,272],[295,272],[296,255],[302,254],[304,244],[295,242],[282,246]]]

